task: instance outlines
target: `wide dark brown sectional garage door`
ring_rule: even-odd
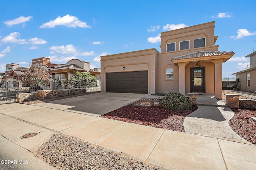
[[[148,71],[106,73],[106,92],[148,94]]]

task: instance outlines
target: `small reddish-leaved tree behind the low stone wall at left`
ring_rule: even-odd
[[[45,84],[50,80],[49,73],[39,64],[30,64],[30,68],[25,71],[24,81],[38,88],[38,84]]]

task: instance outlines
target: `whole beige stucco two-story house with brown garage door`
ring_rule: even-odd
[[[234,52],[218,51],[214,23],[162,32],[161,52],[146,49],[101,56],[101,91],[196,92],[221,99],[222,63]]]

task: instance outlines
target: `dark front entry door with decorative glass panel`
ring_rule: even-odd
[[[205,67],[190,68],[190,91],[205,93]]]

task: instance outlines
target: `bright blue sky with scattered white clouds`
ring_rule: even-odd
[[[250,66],[244,56],[256,40],[255,6],[255,0],[1,0],[0,72],[39,57],[100,67],[101,55],[160,51],[161,32],[216,21],[219,51],[236,53],[223,64],[223,77],[234,77]]]

